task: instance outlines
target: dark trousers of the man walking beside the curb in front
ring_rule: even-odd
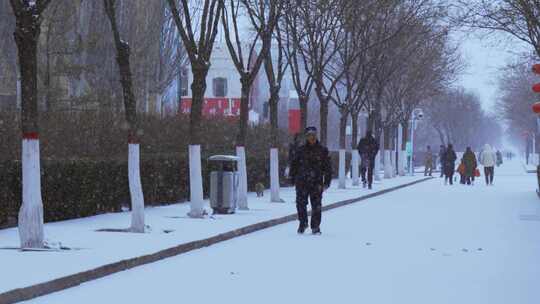
[[[307,205],[311,202],[311,229],[321,225],[322,186],[296,187],[296,210],[300,225],[308,226]]]

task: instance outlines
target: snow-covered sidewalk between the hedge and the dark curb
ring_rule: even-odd
[[[423,176],[417,176],[384,180],[375,184],[373,191],[357,187],[339,190],[333,185],[325,194],[323,205],[358,198],[422,178]],[[0,294],[294,214],[294,189],[283,188],[281,194],[287,203],[269,203],[268,192],[263,198],[257,198],[254,193],[250,193],[249,211],[238,211],[234,215],[216,215],[204,220],[188,218],[188,204],[147,208],[147,224],[151,226],[152,232],[146,234],[96,232],[103,228],[128,227],[130,213],[48,223],[45,225],[45,234],[49,240],[82,249],[65,252],[0,250]],[[172,232],[164,233],[164,230]],[[0,230],[0,247],[17,246],[18,242],[16,228]]]

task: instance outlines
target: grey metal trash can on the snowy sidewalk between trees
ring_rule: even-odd
[[[214,214],[233,214],[238,201],[239,158],[231,155],[215,155],[208,161],[216,170],[210,173],[210,207]]]

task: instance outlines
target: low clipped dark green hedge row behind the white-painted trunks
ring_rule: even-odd
[[[208,155],[204,155],[206,159]],[[286,155],[281,155],[281,175]],[[255,184],[269,185],[269,157],[248,156],[250,191]],[[129,184],[126,161],[43,160],[42,198],[46,222],[119,212],[129,207]],[[203,161],[205,196],[209,190],[210,166]],[[14,224],[21,204],[20,161],[0,162],[0,225]],[[189,198],[187,157],[141,159],[141,180],[147,205],[163,205]]]

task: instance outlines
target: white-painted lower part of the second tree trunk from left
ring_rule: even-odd
[[[144,233],[144,195],[141,183],[140,146],[128,144],[128,179],[131,197],[131,231]]]

